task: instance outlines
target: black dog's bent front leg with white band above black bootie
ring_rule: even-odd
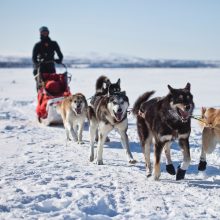
[[[191,158],[190,158],[190,151],[189,151],[189,140],[188,139],[179,139],[179,145],[183,152],[183,162],[178,167],[176,180],[184,179],[186,170],[189,167]]]

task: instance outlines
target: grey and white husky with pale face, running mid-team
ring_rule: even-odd
[[[121,135],[122,146],[126,150],[129,163],[136,162],[130,152],[128,135],[126,133],[128,128],[128,106],[129,100],[125,92],[99,96],[95,99],[93,106],[89,106],[88,118],[90,121],[90,161],[94,160],[94,141],[96,130],[98,129],[96,163],[98,165],[102,165],[103,144],[108,133],[111,130],[116,129]]]

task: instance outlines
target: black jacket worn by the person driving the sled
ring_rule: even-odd
[[[61,63],[63,60],[63,54],[60,51],[58,43],[52,41],[49,37],[42,39],[34,45],[32,53],[33,64],[36,66],[40,61],[54,61],[55,52]]]

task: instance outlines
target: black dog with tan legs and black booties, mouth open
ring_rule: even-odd
[[[160,177],[160,157],[163,148],[167,158],[166,170],[171,175],[176,171],[170,157],[170,145],[179,140],[183,151],[183,162],[178,167],[176,180],[184,179],[190,164],[189,135],[191,132],[191,114],[194,109],[190,84],[184,89],[174,89],[168,85],[169,93],[165,97],[150,99],[154,91],[140,96],[133,107],[137,116],[137,130],[146,163],[147,176],[151,176],[150,146],[154,144],[154,179]]]

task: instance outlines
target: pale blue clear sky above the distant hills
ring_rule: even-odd
[[[220,60],[219,0],[0,0],[0,55],[31,56],[48,26],[64,56]]]

